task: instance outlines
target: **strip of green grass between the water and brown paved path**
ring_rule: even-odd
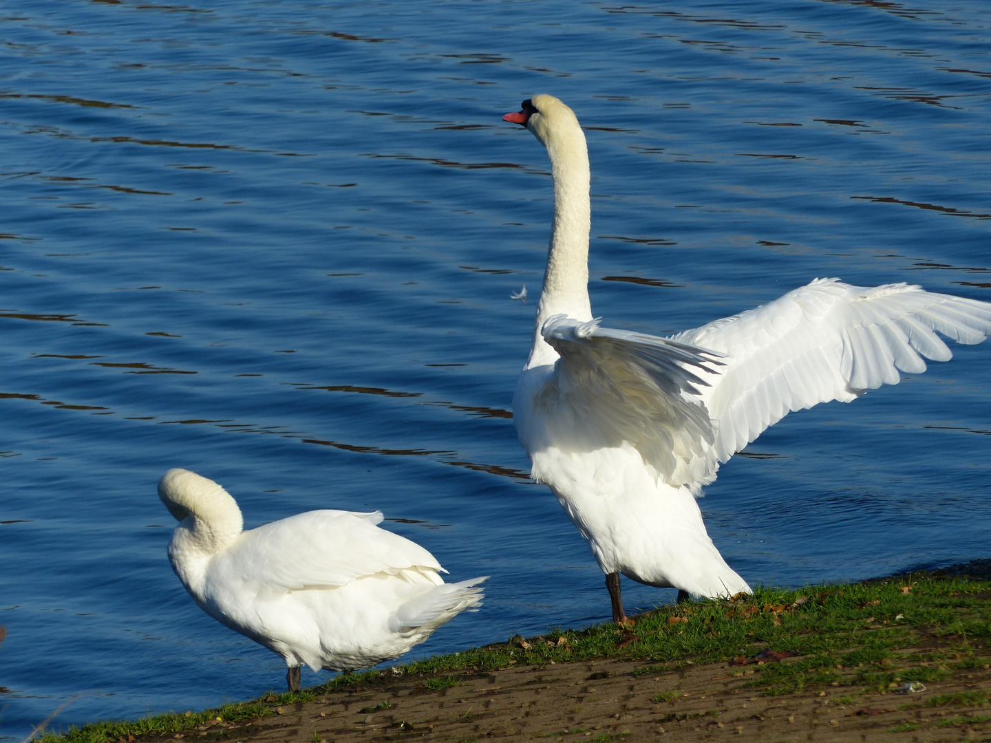
[[[903,592],[909,584],[909,592]],[[789,651],[793,657],[782,663],[731,668],[727,673],[739,674],[743,684],[763,694],[819,688],[837,693],[892,690],[907,681],[944,680],[955,669],[983,668],[991,661],[989,591],[991,582],[935,576],[799,590],[758,587],[752,595],[737,600],[663,606],[640,615],[631,629],[611,622],[584,630],[554,629],[528,638],[525,648],[518,641],[497,643],[413,661],[394,671],[341,675],[309,690],[271,693],[204,712],[99,722],[69,728],[61,735],[46,733],[43,740],[106,743],[128,735],[172,735],[195,729],[218,715],[225,724],[247,721],[272,714],[279,704],[309,701],[341,690],[382,689],[413,680],[442,692],[461,683],[455,675],[516,665],[622,659],[644,664],[634,676],[660,676],[690,661],[746,659],[765,649]],[[669,623],[672,616],[684,621]],[[968,694],[985,696],[976,702],[934,703],[982,703],[986,699],[983,691],[963,692],[960,699],[971,698]]]

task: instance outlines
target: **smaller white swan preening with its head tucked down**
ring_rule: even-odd
[[[299,513],[242,531],[227,490],[169,470],[159,497],[179,521],[168,560],[203,611],[299,667],[351,671],[397,658],[459,612],[485,578],[445,584],[425,549],[380,529],[381,511]]]

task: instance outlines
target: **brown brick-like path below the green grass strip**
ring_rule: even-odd
[[[787,662],[787,661],[786,661]],[[856,693],[817,688],[761,696],[755,667],[596,661],[449,677],[397,676],[376,687],[283,705],[248,725],[219,722],[173,738],[237,743],[437,741],[688,741],[741,735],[761,741],[943,741],[991,737],[991,671],[968,669],[922,692]],[[633,672],[640,670],[640,673]],[[756,673],[759,673],[757,671]],[[975,693],[975,690],[977,693]],[[666,692],[666,693],[665,693]],[[966,703],[933,706],[940,694]],[[983,694],[986,698],[986,694]],[[666,699],[672,699],[670,701]],[[976,706],[975,706],[976,702]],[[889,734],[885,734],[885,733]],[[894,734],[890,734],[894,733]]]

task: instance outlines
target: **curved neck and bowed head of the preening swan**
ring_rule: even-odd
[[[230,493],[188,470],[165,473],[159,480],[159,497],[179,528],[185,527],[196,546],[210,554],[229,545],[244,528],[241,509]]]

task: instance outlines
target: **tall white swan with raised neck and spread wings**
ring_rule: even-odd
[[[550,95],[503,120],[547,148],[554,221],[530,357],[513,397],[531,475],[546,482],[606,573],[680,589],[749,592],[706,533],[695,498],[719,465],[791,410],[848,402],[922,357],[991,334],[991,304],[905,283],[816,279],[770,304],[674,338],[610,330],[589,303],[589,156],[574,112]],[[936,331],[936,332],[934,332]]]

